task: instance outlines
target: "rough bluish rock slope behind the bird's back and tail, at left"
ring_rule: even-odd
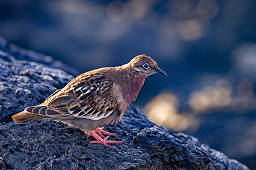
[[[55,69],[53,63],[51,57],[27,52],[0,36],[0,122],[11,120],[24,107],[44,102],[71,81],[73,76]]]

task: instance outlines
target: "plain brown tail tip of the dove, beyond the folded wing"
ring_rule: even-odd
[[[42,120],[44,118],[46,118],[46,116],[41,116],[38,114],[31,114],[28,111],[21,111],[21,112],[19,112],[19,114],[15,114],[14,116],[12,116],[12,119],[17,124],[28,123],[33,120]]]

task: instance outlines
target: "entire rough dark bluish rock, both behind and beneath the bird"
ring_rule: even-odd
[[[133,105],[119,123],[105,126],[119,135],[110,139],[125,141],[116,149],[89,144],[93,138],[62,123],[13,123],[10,116],[42,103],[73,76],[42,54],[24,56],[26,50],[0,42],[0,169],[248,169],[192,136],[155,125]]]

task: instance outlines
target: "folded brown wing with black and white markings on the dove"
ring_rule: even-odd
[[[64,94],[52,97],[46,103],[47,105],[28,107],[25,111],[55,118],[100,120],[118,111],[120,107],[113,95],[113,81],[104,74],[78,78],[64,89]]]

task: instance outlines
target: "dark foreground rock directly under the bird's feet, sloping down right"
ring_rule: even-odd
[[[0,156],[9,169],[247,169],[192,136],[154,125],[133,106],[105,129],[125,143],[116,149],[89,144],[79,129],[53,121],[5,123]]]

